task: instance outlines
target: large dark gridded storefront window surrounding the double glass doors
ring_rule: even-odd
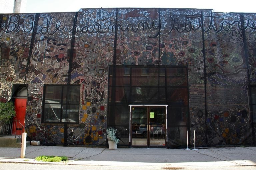
[[[110,66],[108,125],[118,129],[119,145],[129,145],[129,105],[168,105],[168,137],[184,145],[180,141],[189,127],[187,68]]]

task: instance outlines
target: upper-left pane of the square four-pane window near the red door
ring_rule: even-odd
[[[46,86],[45,100],[61,102],[61,86]]]

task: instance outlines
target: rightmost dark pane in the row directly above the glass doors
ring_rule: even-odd
[[[175,105],[188,105],[187,88],[167,88],[167,102]]]

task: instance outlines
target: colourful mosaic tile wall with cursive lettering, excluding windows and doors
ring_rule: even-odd
[[[0,14],[0,100],[28,84],[26,131],[51,144],[105,144],[108,65],[187,65],[191,144],[252,144],[256,14],[82,9]],[[116,27],[115,27],[116,26]],[[77,126],[41,123],[44,84],[80,84]]]

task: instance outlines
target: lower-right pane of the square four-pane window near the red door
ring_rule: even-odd
[[[79,122],[79,105],[63,105],[62,122]]]

